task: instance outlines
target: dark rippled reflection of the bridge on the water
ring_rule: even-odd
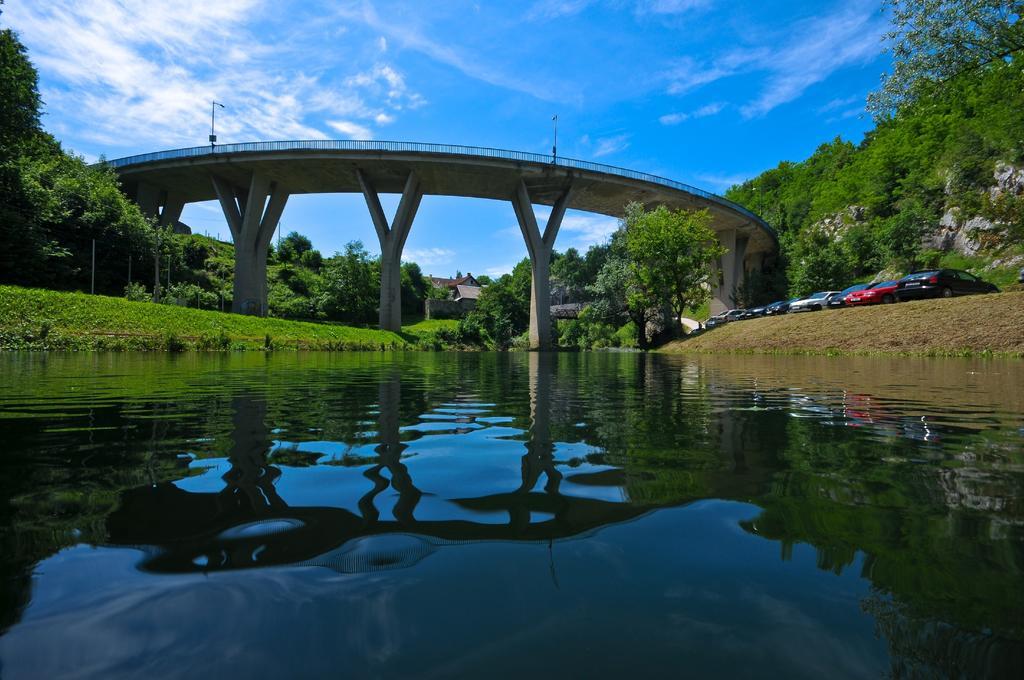
[[[358,512],[338,507],[292,507],[279,495],[280,468],[271,452],[266,405],[256,397],[233,400],[230,469],[219,493],[191,493],[172,483],[126,493],[108,518],[115,545],[150,546],[143,567],[157,571],[208,571],[275,564],[315,564],[341,571],[376,570],[413,564],[436,546],[481,541],[551,542],[638,517],[651,508],[627,502],[561,493],[562,473],[551,437],[554,356],[530,353],[530,428],[518,486],[508,493],[454,499],[464,513],[452,519],[417,519],[423,492],[402,461],[397,369],[379,387],[377,460],[365,476],[371,487]],[[589,475],[596,477],[600,475]],[[620,476],[592,483],[617,485]],[[535,491],[544,478],[541,491]],[[392,519],[383,519],[378,498],[397,496]],[[473,515],[508,516],[496,524]]]

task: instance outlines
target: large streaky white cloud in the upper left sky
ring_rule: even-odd
[[[333,45],[250,30],[267,11],[257,0],[66,0],[9,5],[4,18],[43,76],[47,109],[79,140],[109,146],[205,143],[211,99],[226,104],[221,143],[324,138],[321,117],[390,122],[422,104],[387,65],[380,82],[350,85],[314,65]]]

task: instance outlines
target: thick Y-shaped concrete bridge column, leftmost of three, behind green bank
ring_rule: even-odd
[[[248,188],[216,176],[213,188],[234,242],[231,311],[266,316],[266,251],[288,203],[288,193],[256,172]]]

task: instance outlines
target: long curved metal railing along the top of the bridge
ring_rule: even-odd
[[[230,154],[246,153],[266,153],[266,152],[287,152],[287,151],[353,151],[353,152],[410,152],[415,154],[438,154],[445,156],[473,156],[478,158],[495,158],[505,161],[524,161],[527,163],[541,163],[555,165],[563,168],[575,168],[578,170],[588,170],[591,172],[602,172],[609,175],[617,175],[629,179],[650,182],[668,186],[699,196],[713,201],[719,205],[735,210],[738,213],[758,222],[769,233],[774,235],[773,229],[760,217],[746,208],[733,203],[727,199],[706,192],[702,188],[677,182],[674,179],[659,177],[646,172],[629,170],[613,165],[603,163],[592,163],[591,161],[580,161],[571,158],[552,158],[542,154],[530,152],[513,152],[505,148],[490,148],[488,146],[464,146],[462,144],[435,144],[419,141],[383,141],[383,140],[356,140],[356,139],[301,139],[291,141],[247,141],[237,144],[221,144],[219,146],[190,146],[187,148],[173,148],[165,152],[154,152],[152,154],[140,154],[138,156],[128,156],[125,158],[106,161],[114,168],[124,168],[131,165],[153,163],[156,161],[169,161],[175,159],[203,158],[207,156],[226,156]]]

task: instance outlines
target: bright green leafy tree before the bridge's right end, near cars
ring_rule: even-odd
[[[711,297],[713,264],[726,250],[707,210],[646,211],[633,204],[626,211],[626,252],[636,283],[630,295],[638,304],[670,305],[678,324],[687,308]]]

